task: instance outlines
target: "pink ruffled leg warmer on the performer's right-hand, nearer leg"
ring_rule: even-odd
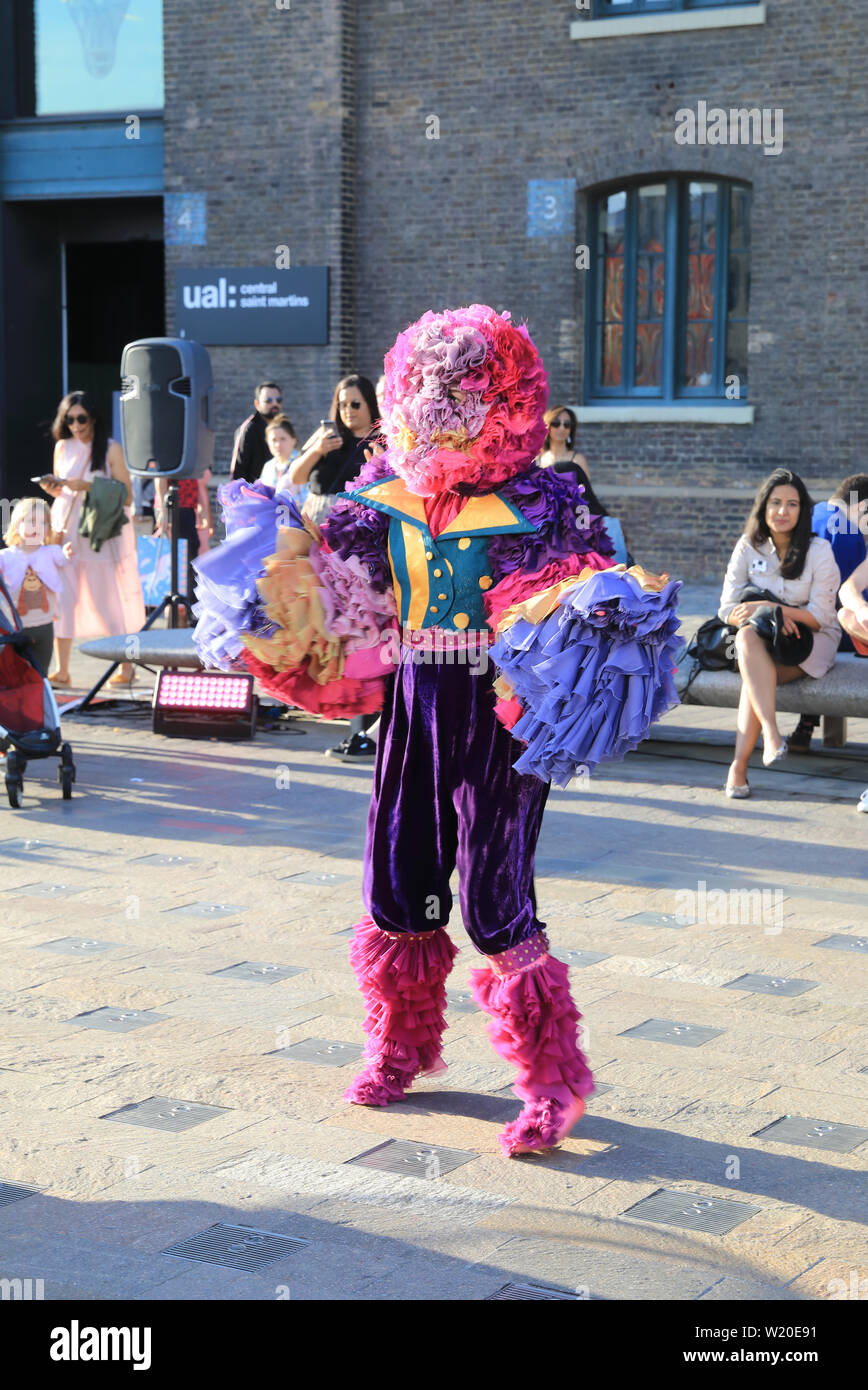
[[[499,1136],[509,1156],[559,1144],[594,1090],[576,1037],[581,1015],[570,995],[569,970],[547,952],[540,931],[488,956],[488,969],[470,974],[476,1002],[491,1015],[488,1037],[519,1072],[513,1090],[524,1109]]]

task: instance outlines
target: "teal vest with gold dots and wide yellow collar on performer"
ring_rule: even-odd
[[[459,514],[434,539],[424,499],[389,475],[352,493],[356,502],[389,517],[388,557],[401,626],[484,630],[483,594],[488,573],[488,537],[526,534],[536,527],[499,492],[467,498]]]

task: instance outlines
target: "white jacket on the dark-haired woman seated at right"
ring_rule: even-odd
[[[825,676],[835,660],[842,630],[835,616],[835,599],[842,578],[835,555],[828,541],[811,537],[808,553],[801,574],[796,580],[785,580],[780,574],[780,560],[773,541],[751,545],[746,535],[729,557],[718,617],[729,621],[729,614],[740,602],[741,591],[748,585],[768,589],[787,607],[801,607],[817,619],[819,631],[814,632],[814,649],[801,662],[805,676]]]

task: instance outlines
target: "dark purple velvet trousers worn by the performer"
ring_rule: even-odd
[[[520,748],[495,717],[492,667],[462,655],[428,664],[402,648],[388,682],[364,905],[385,931],[445,927],[458,866],[465,927],[477,951],[498,955],[542,930],[533,863],[548,783],[513,770]]]

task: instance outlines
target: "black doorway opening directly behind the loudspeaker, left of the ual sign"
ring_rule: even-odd
[[[124,346],[164,331],[161,242],[67,245],[67,379],[95,393],[110,428]]]

